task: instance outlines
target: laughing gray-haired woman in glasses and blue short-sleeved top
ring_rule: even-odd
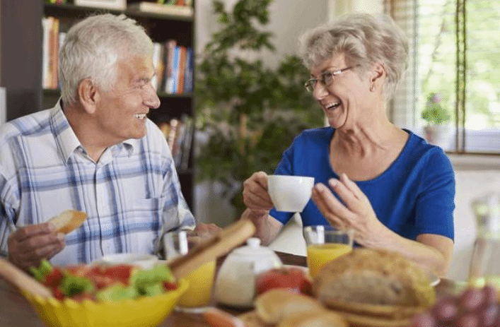
[[[386,113],[407,68],[405,35],[388,16],[344,16],[307,32],[302,55],[310,70],[306,88],[329,126],[298,135],[275,174],[315,177],[303,225],[351,228],[360,246],[397,251],[446,275],[453,168],[441,148],[395,126]],[[257,225],[264,244],[293,215],[272,209],[264,172],[244,182],[243,199],[243,217]]]

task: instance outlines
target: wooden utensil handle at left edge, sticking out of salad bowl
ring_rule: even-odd
[[[40,295],[40,297],[54,297],[48,287],[39,283],[35,278],[31,277],[23,270],[14,266],[4,258],[0,258],[0,276],[8,282],[16,285],[20,290],[25,290],[32,295]]]

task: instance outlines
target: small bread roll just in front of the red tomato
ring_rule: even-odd
[[[322,304],[307,295],[293,294],[286,290],[274,288],[255,299],[257,316],[267,324],[279,323],[286,316],[305,311],[320,311],[325,308]]]

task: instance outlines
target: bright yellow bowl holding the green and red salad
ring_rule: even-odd
[[[31,306],[47,326],[146,327],[158,326],[172,312],[187,290],[187,280],[180,280],[176,290],[155,297],[141,297],[120,302],[93,302],[72,299],[59,301],[23,291]]]

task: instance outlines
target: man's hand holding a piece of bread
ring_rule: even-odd
[[[7,244],[8,260],[25,271],[40,266],[42,258],[48,260],[66,246],[64,234],[57,234],[49,222],[19,228],[8,237]]]

